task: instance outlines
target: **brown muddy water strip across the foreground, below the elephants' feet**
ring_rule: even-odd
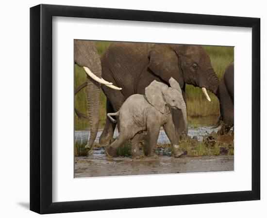
[[[75,157],[75,177],[234,171],[234,156],[159,156],[157,159],[138,160],[129,157],[115,157],[113,160],[88,157]]]

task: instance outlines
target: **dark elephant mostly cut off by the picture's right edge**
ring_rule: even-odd
[[[234,126],[234,62],[225,70],[218,87],[220,101],[220,119],[222,122],[219,133],[222,135]]]

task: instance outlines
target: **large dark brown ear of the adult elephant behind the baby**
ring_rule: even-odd
[[[168,82],[172,77],[179,82],[180,87],[184,86],[183,72],[179,68],[177,53],[165,45],[155,45],[149,54],[149,69]]]

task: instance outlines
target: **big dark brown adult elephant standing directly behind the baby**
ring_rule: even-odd
[[[206,90],[216,93],[219,84],[210,58],[200,46],[113,43],[102,55],[101,66],[102,77],[122,88],[115,92],[102,86],[107,96],[107,113],[117,111],[130,95],[145,94],[145,88],[153,80],[169,85],[168,80],[174,78],[180,84],[185,102],[186,83],[200,87],[209,101]],[[181,111],[172,114],[177,136],[187,132]],[[106,119],[100,144],[112,140],[114,129],[115,124]]]

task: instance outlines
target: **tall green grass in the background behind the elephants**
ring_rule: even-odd
[[[99,55],[109,47],[111,42],[95,42]],[[223,77],[224,71],[230,62],[234,60],[234,47],[203,46],[210,56],[212,66],[219,79]],[[75,65],[75,89],[86,81],[86,75],[83,68]],[[219,101],[217,97],[210,93],[211,102],[204,97],[199,87],[186,85],[187,114],[189,125],[216,125],[219,117]],[[106,119],[106,97],[104,93],[100,94],[100,126],[105,124]],[[86,88],[75,96],[75,107],[81,112],[86,113],[87,100]],[[79,119],[75,116],[75,129],[84,129],[89,127],[86,119]]]

